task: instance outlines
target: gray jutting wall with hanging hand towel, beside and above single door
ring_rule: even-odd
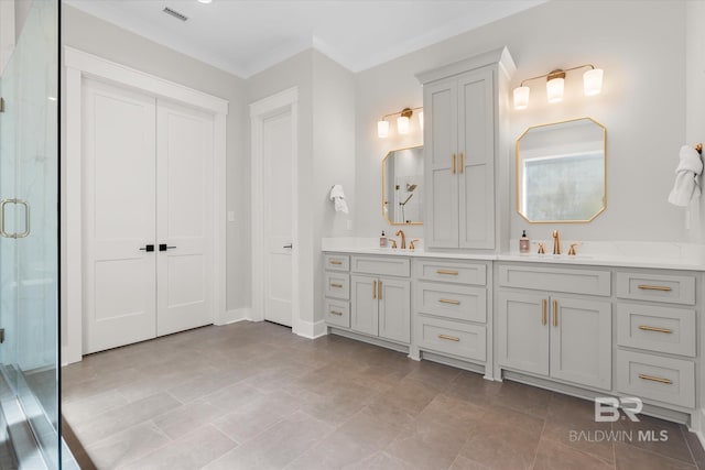
[[[301,317],[323,318],[322,237],[351,234],[335,212],[330,186],[341,184],[355,210],[354,75],[310,50],[250,77],[248,102],[299,87],[299,240]]]

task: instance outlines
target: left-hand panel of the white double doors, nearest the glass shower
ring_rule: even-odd
[[[83,88],[84,353],[154,338],[155,100]]]

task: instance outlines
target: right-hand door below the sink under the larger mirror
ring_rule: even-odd
[[[554,308],[556,308],[555,311]],[[554,315],[556,315],[555,318]],[[552,297],[551,320],[551,375],[609,390],[611,387],[611,304]]]

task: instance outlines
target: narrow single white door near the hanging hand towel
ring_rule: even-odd
[[[292,326],[293,128],[291,108],[263,119],[264,319]]]

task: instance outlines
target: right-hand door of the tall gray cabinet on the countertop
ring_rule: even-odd
[[[459,247],[495,248],[492,70],[458,79]]]

